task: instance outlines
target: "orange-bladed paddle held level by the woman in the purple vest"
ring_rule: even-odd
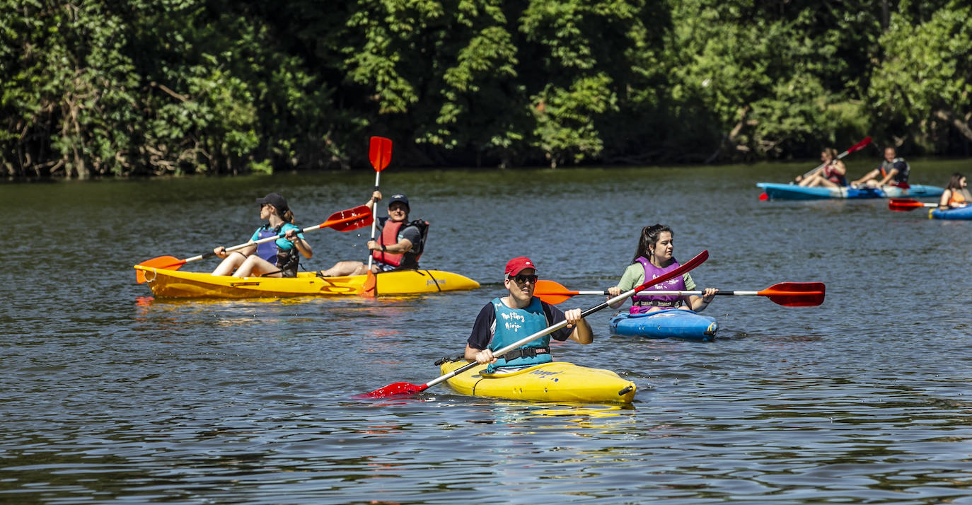
[[[784,307],[816,307],[823,303],[825,291],[823,283],[779,283],[760,291],[718,291],[715,294],[731,296],[759,295],[766,296],[774,303]],[[551,303],[558,304],[578,294],[608,294],[608,291],[572,291],[553,281],[537,281],[534,296]],[[651,294],[663,296],[683,296],[694,294],[701,296],[702,291],[651,291]]]

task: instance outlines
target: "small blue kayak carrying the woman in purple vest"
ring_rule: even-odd
[[[622,313],[611,318],[610,332],[650,338],[682,338],[712,342],[718,329],[714,318],[692,311],[670,309],[650,314]]]

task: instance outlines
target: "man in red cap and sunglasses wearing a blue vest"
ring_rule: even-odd
[[[509,371],[553,361],[550,356],[551,338],[559,341],[571,339],[580,344],[594,342],[594,332],[591,325],[580,318],[580,309],[562,312],[534,296],[537,265],[530,258],[514,257],[506,263],[503,286],[508,291],[507,295],[487,303],[472,324],[466,344],[467,361],[489,363],[486,367],[489,373]],[[500,356],[493,354],[563,320],[567,320],[567,327],[538,337],[509,353]]]

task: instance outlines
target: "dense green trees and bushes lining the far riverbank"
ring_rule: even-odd
[[[969,154],[965,0],[0,0],[0,174]]]

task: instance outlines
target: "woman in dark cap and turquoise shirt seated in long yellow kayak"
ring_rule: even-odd
[[[314,255],[300,228],[294,224],[294,213],[283,196],[269,193],[257,198],[257,203],[260,204],[260,219],[266,219],[266,224],[254,232],[250,241],[256,242],[281,233],[286,236],[232,253],[226,253],[223,246],[214,249],[213,253],[222,257],[223,262],[213,270],[213,275],[295,277],[300,260],[297,253],[306,258]]]

